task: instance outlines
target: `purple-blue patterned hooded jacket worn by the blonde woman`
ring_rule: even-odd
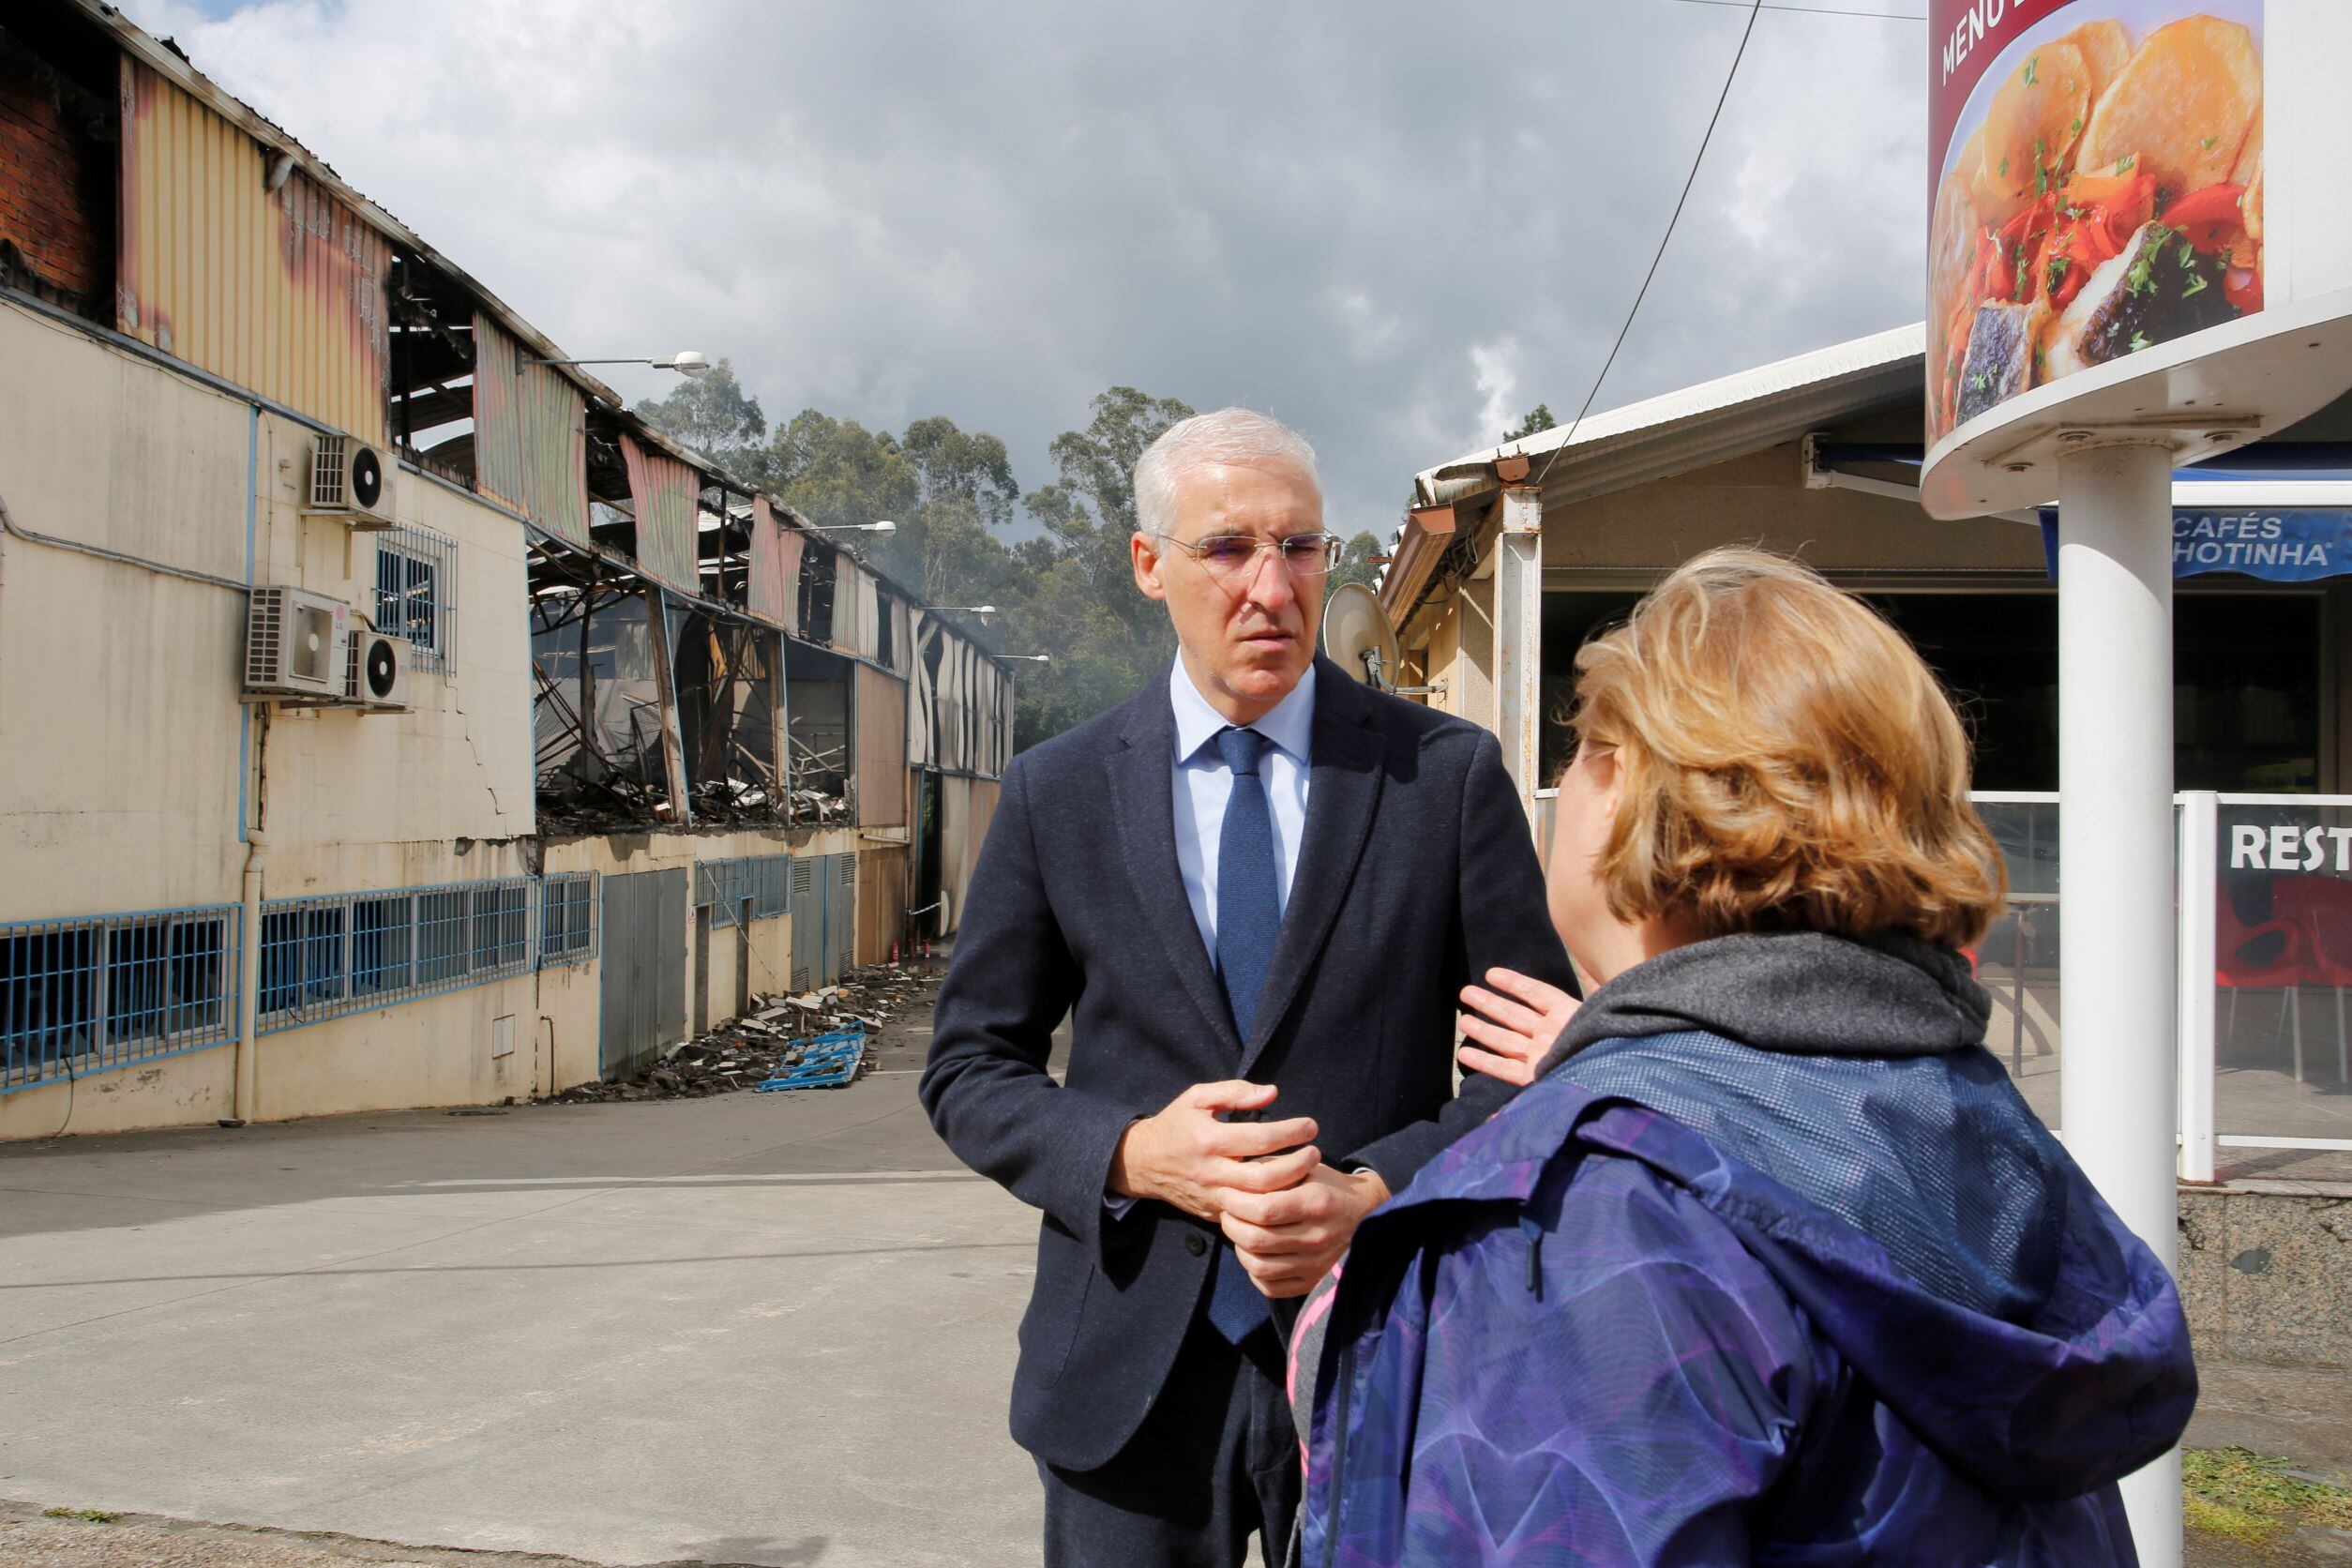
[[[2171,1276],[1983,1048],[1611,1039],[1357,1232],[1294,1561],[2136,1563],[2114,1481],[2194,1399]]]

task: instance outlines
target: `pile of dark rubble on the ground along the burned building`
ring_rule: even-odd
[[[903,964],[851,969],[840,985],[802,997],[753,997],[741,1018],[661,1051],[649,1067],[604,1084],[576,1084],[557,1105],[602,1100],[677,1100],[753,1088],[800,1065],[795,1041],[842,1030],[882,1034],[891,1018],[920,1006],[938,976]],[[873,1053],[866,1072],[873,1072]]]

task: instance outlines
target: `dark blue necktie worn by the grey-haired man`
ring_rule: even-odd
[[[1216,731],[1216,750],[1232,771],[1225,825],[1216,835],[1216,973],[1225,983],[1232,1027],[1249,1041],[1265,990],[1265,966],[1282,933],[1282,884],[1275,872],[1275,813],[1265,804],[1258,759],[1265,736],[1254,729]],[[1265,1295],[1242,1269],[1232,1248],[1218,1248],[1216,1281],[1209,1286],[1209,1324],[1240,1345],[1270,1316]]]

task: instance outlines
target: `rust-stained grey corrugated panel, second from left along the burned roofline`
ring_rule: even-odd
[[[532,522],[588,543],[588,400],[473,313],[475,482]]]

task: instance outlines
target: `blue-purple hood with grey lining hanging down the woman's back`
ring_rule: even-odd
[[[1755,961],[1755,943],[1773,950]],[[1729,1225],[1877,1396],[1987,1493],[2058,1500],[2131,1474],[2197,1401],[2171,1274],[1983,1046],[1929,1044],[1950,1041],[1983,997],[1957,954],[1922,947],[1919,978],[1884,947],[1835,954],[1806,994],[1790,954],[1818,943],[1839,938],[1729,938],[1668,954],[1675,969],[1628,971],[1585,1013],[1733,1023],[1733,976],[1762,973],[1762,1006],[1740,1023],[1769,1013],[1773,1044],[1684,1025],[1555,1053],[1548,1077],[1367,1225],[1437,1201],[1526,1204],[1564,1157],[1637,1159]],[[1708,947],[1724,950],[1719,969]],[[1675,973],[1689,987],[1663,983]],[[1842,1044],[1806,1051],[1795,1020],[1823,997],[1849,1009]],[[1865,1039],[1893,1048],[1863,1053]]]

